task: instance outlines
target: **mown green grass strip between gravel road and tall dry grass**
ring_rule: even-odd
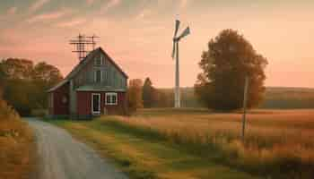
[[[130,127],[110,117],[90,122],[49,121],[85,141],[131,178],[258,178],[217,165],[165,140],[149,128]]]

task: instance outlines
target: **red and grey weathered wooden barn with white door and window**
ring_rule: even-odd
[[[91,118],[126,112],[127,75],[101,48],[48,90],[51,117]]]

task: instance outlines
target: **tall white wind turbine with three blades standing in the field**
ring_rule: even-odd
[[[179,37],[177,37],[177,33],[179,30],[180,21],[176,20],[176,27],[174,30],[173,40],[173,48],[172,48],[172,59],[176,57],[176,87],[174,90],[174,107],[180,107],[180,88],[179,88],[179,41],[181,38],[184,38],[190,34],[189,27],[184,30]]]

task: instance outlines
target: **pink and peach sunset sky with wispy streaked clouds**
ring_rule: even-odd
[[[193,86],[207,42],[223,29],[239,30],[266,56],[266,86],[314,87],[314,2],[225,0],[56,0],[0,3],[0,58],[56,65],[65,75],[78,59],[68,40],[100,36],[99,46],[131,79],[174,85],[170,57],[174,20],[191,35],[180,46],[180,83]]]

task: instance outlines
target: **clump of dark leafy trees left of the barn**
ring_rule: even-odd
[[[20,115],[31,115],[33,109],[46,109],[47,90],[63,76],[56,66],[21,58],[0,61],[0,90],[8,105]]]

